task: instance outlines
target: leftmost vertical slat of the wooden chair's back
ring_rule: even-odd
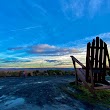
[[[90,57],[90,42],[87,44],[87,54],[86,54],[86,81],[89,81],[89,64],[88,58]]]

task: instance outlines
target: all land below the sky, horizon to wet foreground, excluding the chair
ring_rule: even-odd
[[[23,72],[26,73],[27,77],[33,77],[22,78]],[[67,110],[85,110],[89,107],[88,110],[109,110],[110,108],[109,90],[97,91],[94,97],[84,87],[77,87],[73,84],[75,81],[74,68],[1,68],[0,77],[0,100],[2,100],[0,107],[2,109],[18,110],[19,108],[26,108],[26,110],[30,110],[37,108],[41,110],[43,107],[45,110],[49,108],[62,110],[66,107]],[[107,80],[110,81],[109,76],[107,76]],[[45,90],[47,96],[44,97]],[[40,95],[36,96],[37,92]],[[40,98],[41,96],[42,98]],[[14,97],[14,99],[10,99],[10,97]]]

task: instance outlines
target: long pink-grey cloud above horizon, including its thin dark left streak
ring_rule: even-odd
[[[72,53],[82,52],[75,48],[57,47],[49,44],[39,44],[39,45],[27,46],[27,47],[15,47],[15,48],[9,48],[8,50],[11,51],[24,50],[28,54],[36,54],[38,56],[63,56]]]

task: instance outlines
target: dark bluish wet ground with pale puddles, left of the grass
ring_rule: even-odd
[[[74,76],[0,78],[0,110],[98,110],[59,88],[73,80]]]

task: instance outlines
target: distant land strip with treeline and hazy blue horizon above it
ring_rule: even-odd
[[[0,68],[0,77],[73,75],[73,68]]]

